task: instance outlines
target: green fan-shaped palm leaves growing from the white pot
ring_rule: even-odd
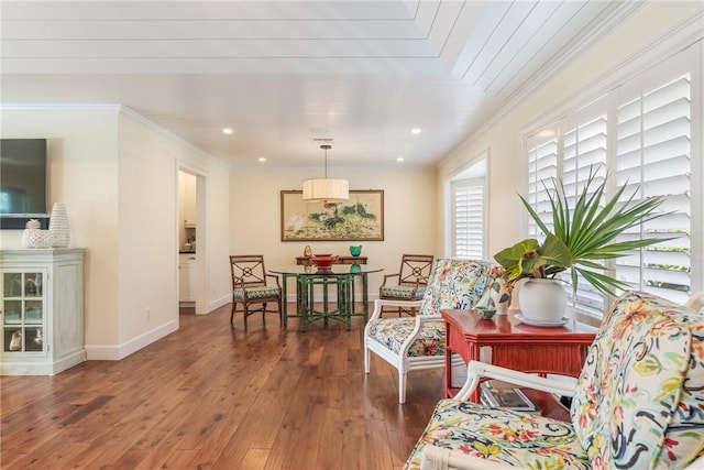
[[[506,269],[507,282],[514,283],[522,277],[554,277],[560,272],[571,270],[574,292],[581,275],[600,292],[615,295],[615,288],[626,288],[628,285],[607,275],[606,266],[597,261],[625,256],[630,250],[669,240],[641,238],[614,241],[625,230],[666,215],[657,211],[663,198],[653,196],[634,201],[634,192],[625,203],[619,203],[625,192],[625,186],[622,186],[604,206],[600,206],[605,199],[607,178],[597,183],[595,176],[594,168],[591,168],[574,207],[570,207],[562,179],[552,179],[552,192],[542,182],[552,208],[552,231],[526,198],[519,196],[540,230],[546,233],[546,239],[542,243],[526,239],[494,255]]]

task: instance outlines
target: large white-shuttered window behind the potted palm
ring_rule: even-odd
[[[692,231],[702,230],[701,221],[693,227],[692,218],[702,210],[702,201],[692,198],[692,188],[702,184],[701,176],[692,173],[692,155],[700,154],[693,147],[692,117],[701,113],[693,107],[701,103],[691,99],[689,69],[695,70],[697,62],[689,57],[689,63],[686,57],[675,57],[526,138],[527,200],[546,222],[552,215],[541,181],[562,178],[569,197],[583,188],[591,165],[602,168],[598,177],[608,170],[612,192],[626,185],[626,197],[638,190],[635,201],[664,198],[661,209],[666,216],[620,238],[661,237],[663,242],[612,261],[607,267],[631,288],[679,303],[686,302],[692,289],[691,256],[696,240]],[[544,237],[532,220],[528,232],[539,240]],[[579,282],[573,298],[578,308],[602,315],[608,302],[588,283]]]

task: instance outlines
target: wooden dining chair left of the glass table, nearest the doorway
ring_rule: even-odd
[[[264,314],[278,313],[279,324],[283,324],[282,287],[278,283],[278,276],[266,272],[262,254],[231,255],[230,273],[232,274],[230,324],[232,324],[234,313],[240,304],[244,309],[245,328],[246,318],[257,311],[262,313],[262,321],[266,321]],[[258,308],[252,308],[255,305],[258,305]],[[276,309],[267,309],[267,305],[275,305]]]

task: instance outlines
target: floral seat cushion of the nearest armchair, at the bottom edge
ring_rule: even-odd
[[[526,469],[591,469],[572,425],[539,415],[441,400],[404,470],[419,470],[433,445]]]

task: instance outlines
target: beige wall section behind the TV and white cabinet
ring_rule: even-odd
[[[3,110],[1,131],[3,138],[48,139],[50,201],[66,204],[70,247],[89,249],[85,264],[86,339],[95,345],[117,345],[117,110]],[[0,231],[2,248],[21,248],[21,230]]]

